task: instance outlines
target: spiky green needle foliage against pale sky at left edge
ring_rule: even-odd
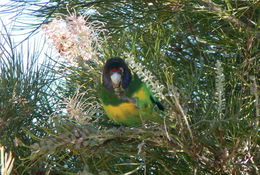
[[[35,142],[25,134],[23,128],[43,136],[39,127],[48,127],[48,114],[55,110],[52,98],[52,82],[55,80],[49,63],[40,64],[40,43],[27,41],[30,50],[24,45],[15,45],[7,29],[1,33],[0,57],[0,144],[13,152],[16,166],[18,157],[30,154],[28,149],[17,147],[20,142]],[[34,48],[33,48],[34,47]],[[39,50],[38,50],[39,49]],[[23,167],[23,165],[20,165]],[[18,170],[19,171],[19,170]]]

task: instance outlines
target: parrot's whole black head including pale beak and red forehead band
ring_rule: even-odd
[[[103,70],[103,85],[113,91],[114,88],[129,86],[131,71],[123,59],[115,57],[107,60]]]

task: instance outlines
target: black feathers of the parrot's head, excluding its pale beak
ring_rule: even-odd
[[[121,86],[126,89],[131,82],[131,71],[124,62],[123,59],[119,57],[110,58],[107,60],[104,70],[103,70],[103,85],[113,91],[113,85],[111,80],[111,72],[118,71],[121,76]]]

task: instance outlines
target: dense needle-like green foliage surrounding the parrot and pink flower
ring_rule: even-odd
[[[48,70],[21,74],[21,59],[4,59],[0,124],[11,138],[1,144],[15,151],[10,141],[20,135],[31,150],[15,152],[28,167],[22,172],[16,165],[16,174],[43,167],[50,174],[259,173],[259,1],[52,0],[36,6],[33,15],[43,23],[67,9],[95,9],[89,20],[105,22],[109,31],[102,36],[101,62],[120,56],[149,70],[163,87],[166,123],[129,128],[109,121],[100,107],[88,112],[87,104],[98,104],[102,69],[91,62],[59,67],[65,83],[57,90],[64,99],[89,93],[71,98],[81,107],[68,111],[66,103],[60,110],[67,112],[47,122],[55,110],[45,98]],[[87,122],[71,117],[73,110]],[[33,126],[34,118],[43,122]]]

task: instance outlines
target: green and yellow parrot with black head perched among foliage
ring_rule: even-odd
[[[164,110],[145,83],[136,74],[132,75],[124,60],[118,57],[107,60],[99,95],[108,118],[127,126],[158,121],[156,108]]]

